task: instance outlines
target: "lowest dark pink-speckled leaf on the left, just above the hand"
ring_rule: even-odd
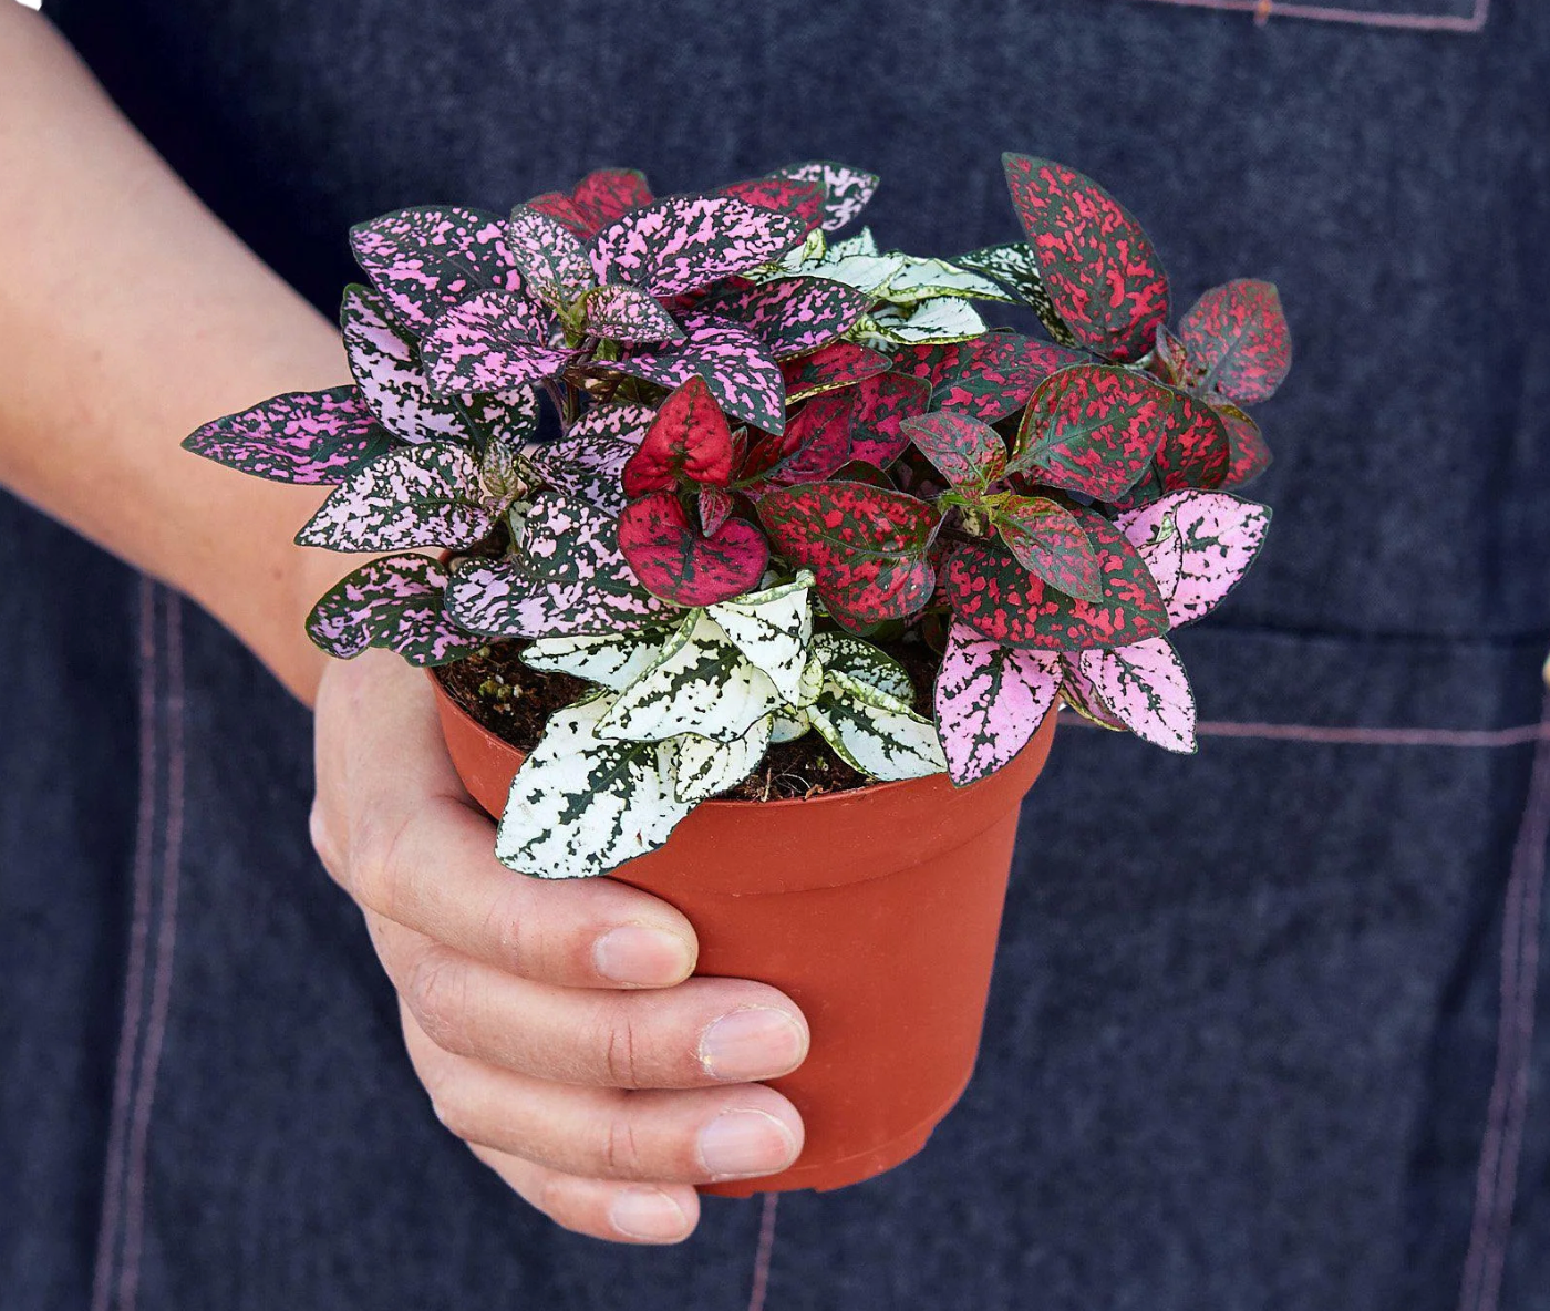
[[[307,617],[307,635],[350,660],[367,646],[397,651],[411,665],[445,665],[484,645],[443,606],[446,575],[423,555],[384,555],[330,587]]]

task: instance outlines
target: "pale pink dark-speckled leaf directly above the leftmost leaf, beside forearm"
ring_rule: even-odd
[[[456,397],[431,391],[414,338],[392,321],[380,296],[364,287],[347,287],[339,325],[361,398],[394,437],[405,442],[468,439],[468,420]]]

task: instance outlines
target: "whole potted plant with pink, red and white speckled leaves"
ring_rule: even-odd
[[[355,383],[186,442],[335,487],[298,541],[383,555],[308,632],[431,669],[502,862],[646,888],[702,973],[803,1007],[775,1083],[804,1153],[719,1192],[924,1145],[973,1068],[1052,711],[1194,750],[1167,634],[1269,519],[1228,488],[1269,459],[1245,406],[1290,364],[1276,288],[1170,330],[1135,218],[1004,164],[1026,240],[952,260],[835,237],[877,180],[832,163],[384,215],[352,232]]]

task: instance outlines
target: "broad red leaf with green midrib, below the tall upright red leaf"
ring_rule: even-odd
[[[1118,501],[1147,471],[1187,397],[1114,364],[1076,364],[1038,384],[1017,429],[1014,471]],[[1203,409],[1203,406],[1201,406]]]

